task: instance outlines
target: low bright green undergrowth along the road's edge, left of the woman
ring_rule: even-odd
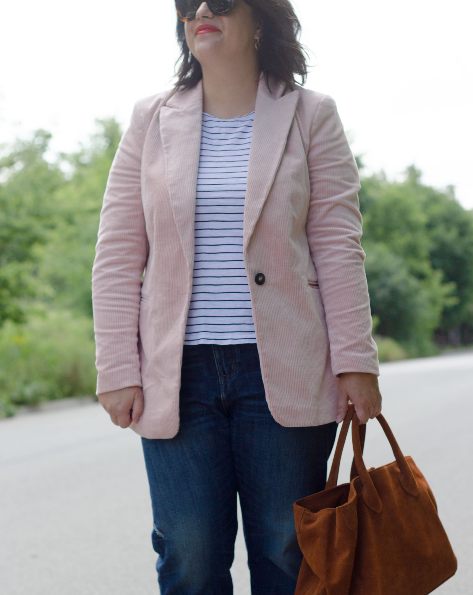
[[[93,322],[69,312],[43,312],[0,333],[0,417],[16,405],[95,392]]]

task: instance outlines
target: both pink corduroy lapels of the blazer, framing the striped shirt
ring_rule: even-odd
[[[245,195],[243,250],[254,231],[261,209],[271,189],[291,129],[299,92],[284,93],[283,83],[269,81],[261,74],[258,82],[247,193]],[[160,109],[166,184],[181,239],[192,274],[194,267],[194,215],[198,159],[202,126],[202,82],[188,91],[178,90]]]

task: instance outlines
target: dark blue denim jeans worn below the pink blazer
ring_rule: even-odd
[[[174,438],[142,439],[161,594],[231,595],[237,492],[251,593],[294,594],[292,504],[323,490],[336,423],[279,425],[255,343],[184,345],[179,407]]]

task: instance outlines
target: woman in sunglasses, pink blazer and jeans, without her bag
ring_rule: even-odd
[[[232,593],[238,491],[252,593],[289,594],[292,503],[348,399],[381,411],[357,167],[332,98],[295,84],[289,0],[176,8],[178,83],[135,105],[105,192],[97,394],[142,437],[161,593]]]

